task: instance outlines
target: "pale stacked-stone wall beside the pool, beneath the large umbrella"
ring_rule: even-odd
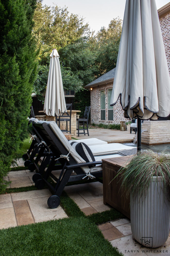
[[[170,143],[170,121],[144,121],[141,134],[141,143],[162,144]]]

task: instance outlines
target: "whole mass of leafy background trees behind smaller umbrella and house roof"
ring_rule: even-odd
[[[115,68],[122,31],[122,20],[112,19],[96,35],[90,32],[83,18],[69,14],[67,7],[42,5],[38,0],[34,14],[33,33],[37,39],[39,72],[34,92],[44,101],[49,70],[49,55],[53,48],[60,55],[64,89],[79,92],[102,74]],[[89,96],[88,96],[89,97]]]

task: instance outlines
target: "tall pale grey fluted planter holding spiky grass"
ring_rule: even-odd
[[[160,179],[160,178],[159,178]],[[159,247],[168,239],[170,203],[156,177],[146,197],[130,195],[130,220],[134,238],[146,247]]]

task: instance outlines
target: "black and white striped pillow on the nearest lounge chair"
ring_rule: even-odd
[[[95,158],[91,149],[84,142],[71,142],[70,145],[74,148],[74,150],[86,161],[86,162],[94,162]]]

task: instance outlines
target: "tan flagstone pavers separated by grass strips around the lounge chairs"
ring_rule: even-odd
[[[20,161],[22,166],[24,161]],[[11,181],[10,187],[32,186],[32,175],[29,170],[11,171],[6,177]],[[56,176],[58,173],[56,172]],[[75,201],[79,208],[90,215],[111,208],[103,204],[103,186],[100,182],[66,186],[64,191]],[[47,220],[67,218],[61,206],[50,209],[47,199],[51,195],[48,189],[33,190],[0,195],[0,229],[27,225]],[[119,249],[125,256],[135,255],[169,255],[170,235],[166,243],[159,248],[141,246],[132,236],[130,220],[118,219],[98,225],[105,239]]]

